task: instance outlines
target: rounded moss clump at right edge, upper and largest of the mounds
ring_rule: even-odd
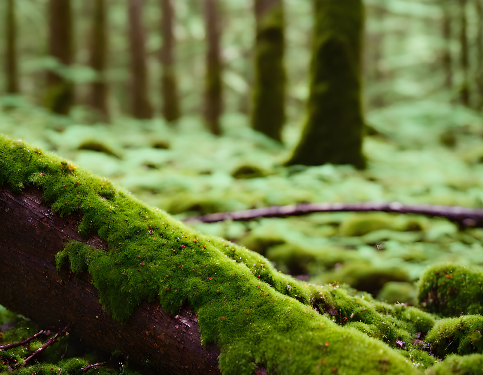
[[[483,313],[483,272],[443,264],[427,268],[418,283],[418,300],[445,317]]]

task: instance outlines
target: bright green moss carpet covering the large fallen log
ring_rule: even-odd
[[[198,314],[203,343],[221,347],[224,374],[251,373],[255,365],[269,373],[276,367],[279,374],[321,374],[334,367],[372,374],[382,366],[388,374],[414,374],[398,351],[319,314],[312,304],[321,303],[323,287],[277,272],[257,253],[197,233],[107,179],[1,136],[0,182],[15,190],[42,188],[54,212],[82,214],[81,235],[97,233],[105,241],[108,251],[71,241],[57,263],[76,272],[87,268],[115,320],[128,319],[143,299],[159,299],[170,312],[188,305]],[[355,297],[349,298],[352,305],[339,299],[341,314],[360,308]],[[411,318],[411,310],[395,311]]]

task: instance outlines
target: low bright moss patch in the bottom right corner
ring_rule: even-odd
[[[483,355],[470,354],[466,356],[449,355],[443,362],[436,363],[431,367],[427,375],[479,375],[483,368]]]

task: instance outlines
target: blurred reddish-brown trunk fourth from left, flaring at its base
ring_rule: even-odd
[[[151,119],[153,107],[148,98],[148,78],[142,6],[144,0],[129,0],[129,51],[131,54],[132,115],[137,119]]]

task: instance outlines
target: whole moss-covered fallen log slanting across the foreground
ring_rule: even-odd
[[[400,343],[420,329],[402,330],[416,320],[411,309],[388,311],[338,285],[295,280],[107,179],[3,136],[0,184],[8,270],[0,303],[36,321],[71,321],[85,341],[158,373],[418,372],[412,351],[420,350]],[[389,322],[391,313],[399,320]],[[354,319],[380,336],[344,326]]]

